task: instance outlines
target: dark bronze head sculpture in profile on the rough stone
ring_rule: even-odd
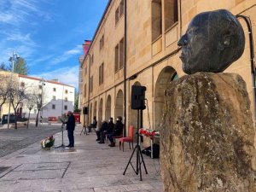
[[[245,36],[236,16],[219,9],[195,15],[177,45],[184,73],[220,73],[242,55]]]

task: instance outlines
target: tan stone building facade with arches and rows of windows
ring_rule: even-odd
[[[87,123],[93,116],[98,122],[122,116],[126,131],[129,125],[137,126],[137,111],[131,109],[131,85],[137,84],[147,88],[143,127],[157,130],[166,84],[185,75],[177,41],[195,15],[215,9],[250,17],[256,36],[255,0],[110,0],[88,54],[80,61],[81,106],[89,107]],[[253,112],[247,26],[240,21],[246,49],[225,73],[239,73],[246,81]]]

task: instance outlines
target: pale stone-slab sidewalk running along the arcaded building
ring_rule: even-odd
[[[119,147],[96,143],[96,134],[79,136],[76,126],[75,148],[42,150],[34,143],[15,153],[0,158],[0,191],[61,191],[61,192],[162,192],[163,184],[156,170],[159,160],[143,155],[148,175],[143,170],[143,181],[129,166],[125,166],[132,150],[125,143],[125,152]],[[67,131],[64,131],[64,144]],[[61,145],[61,132],[55,135],[55,146]],[[133,164],[135,165],[136,155]],[[143,168],[143,166],[142,166]]]

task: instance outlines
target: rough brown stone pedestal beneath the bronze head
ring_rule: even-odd
[[[168,86],[164,110],[160,160],[165,191],[256,191],[255,133],[241,76],[184,76]]]

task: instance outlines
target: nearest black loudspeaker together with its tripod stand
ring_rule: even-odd
[[[142,149],[141,146],[139,145],[139,126],[140,126],[140,121],[139,121],[139,116],[140,116],[140,111],[146,108],[145,106],[145,91],[146,87],[144,86],[137,86],[137,85],[132,85],[131,86],[131,109],[137,110],[137,145],[133,149],[133,152],[131,154],[130,160],[127,163],[127,166],[125,167],[125,172],[128,168],[129,165],[131,165],[133,171],[138,175],[140,174],[140,180],[143,180],[142,177],[142,163],[145,169],[146,174],[148,174],[145,162],[143,160],[143,154],[142,154]],[[131,159],[133,154],[137,152],[137,158],[136,158],[136,169],[134,166],[131,164]],[[125,175],[125,172],[123,175]]]

